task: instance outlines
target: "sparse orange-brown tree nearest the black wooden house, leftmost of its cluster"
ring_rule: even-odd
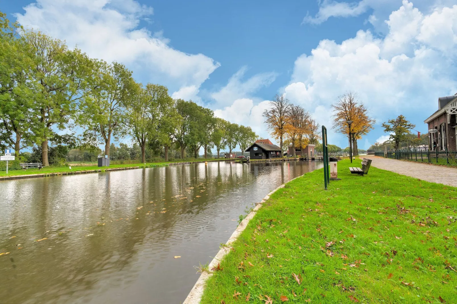
[[[270,109],[263,112],[263,117],[265,117],[265,122],[271,131],[271,136],[276,140],[279,139],[281,153],[283,151],[283,139],[286,134],[287,114],[290,107],[291,104],[287,98],[284,98],[284,95],[276,95],[275,99],[270,102]]]

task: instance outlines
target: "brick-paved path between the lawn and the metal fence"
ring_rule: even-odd
[[[420,178],[432,183],[457,187],[457,168],[447,168],[419,162],[408,162],[378,156],[363,156],[372,159],[372,166],[399,174]]]

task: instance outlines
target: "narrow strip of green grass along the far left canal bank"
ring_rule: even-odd
[[[89,170],[99,170],[101,169],[102,171],[108,169],[108,168],[128,168],[128,167],[140,167],[140,168],[152,168],[152,167],[162,167],[162,166],[167,166],[170,163],[175,163],[175,162],[193,162],[193,161],[204,161],[205,159],[203,158],[198,158],[198,159],[186,159],[186,160],[177,160],[173,162],[146,162],[144,163],[129,163],[129,164],[112,164],[109,167],[98,167],[96,164],[95,165],[86,165],[86,166],[81,166],[77,165],[74,166],[71,163],[69,166],[71,166],[71,169],[69,166],[65,167],[44,167],[42,169],[27,169],[27,170],[9,170],[8,171],[8,176],[13,176],[13,175],[31,175],[31,174],[43,174],[43,173],[64,173],[64,172],[76,172],[76,171],[89,171]],[[0,177],[1,176],[6,176],[6,171],[0,171]]]

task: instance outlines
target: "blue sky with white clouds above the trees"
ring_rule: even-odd
[[[331,105],[356,93],[377,121],[359,140],[367,149],[400,114],[427,132],[438,97],[457,93],[457,0],[0,0],[0,10],[262,138],[276,94],[344,148]]]

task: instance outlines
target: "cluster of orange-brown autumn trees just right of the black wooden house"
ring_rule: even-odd
[[[290,154],[295,156],[295,148],[304,148],[308,144],[318,144],[322,137],[319,124],[309,112],[299,105],[293,105],[284,97],[276,95],[270,102],[270,109],[263,112],[265,123],[271,136],[279,140],[281,151],[285,144],[292,145]]]

